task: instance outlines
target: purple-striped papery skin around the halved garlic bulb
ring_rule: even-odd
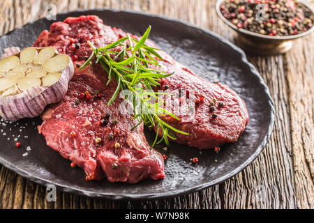
[[[40,49],[40,48],[36,48]],[[16,54],[16,47],[11,50]],[[10,49],[6,49],[6,56]],[[61,54],[59,54],[61,55]],[[2,58],[6,57],[2,56]],[[9,121],[39,116],[47,105],[59,102],[68,91],[68,82],[74,74],[73,62],[61,71],[61,78],[51,86],[33,86],[17,95],[0,97],[0,116]]]

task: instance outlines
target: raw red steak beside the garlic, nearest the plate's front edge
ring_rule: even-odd
[[[87,40],[101,46],[117,38],[98,17],[82,16],[52,24],[50,32],[43,31],[34,46],[52,45],[59,52],[78,56],[73,60],[82,64],[84,56],[91,54]],[[74,42],[80,43],[79,49]],[[136,123],[131,121],[133,116],[121,114],[122,99],[117,98],[107,106],[117,84],[111,82],[106,86],[106,82],[107,76],[102,69],[91,66],[76,69],[65,98],[47,107],[42,114],[39,132],[45,136],[48,146],[82,167],[87,180],[107,177],[111,182],[137,183],[144,178],[164,178],[163,157],[147,144],[143,125],[130,130]],[[93,93],[96,90],[103,94],[101,98],[79,97],[84,91]],[[101,118],[101,114],[110,116]],[[101,141],[96,142],[97,138]]]

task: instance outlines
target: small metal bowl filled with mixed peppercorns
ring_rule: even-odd
[[[304,0],[218,0],[216,12],[236,31],[236,44],[257,54],[283,54],[314,30],[314,10]]]

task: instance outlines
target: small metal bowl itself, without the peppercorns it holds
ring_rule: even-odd
[[[227,20],[220,12],[220,5],[225,0],[218,0],[216,3],[216,12],[223,22],[237,32],[235,37],[236,44],[242,49],[262,55],[283,54],[289,51],[292,47],[292,40],[303,37],[314,31],[314,26],[304,33],[299,33],[293,36],[267,36],[259,33],[254,33],[246,29],[239,29],[237,26]],[[313,8],[303,0],[299,1],[308,7],[314,14]]]

